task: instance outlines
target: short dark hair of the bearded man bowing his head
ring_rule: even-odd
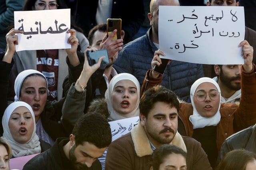
[[[102,115],[90,112],[78,119],[72,131],[76,146],[84,142],[91,143],[98,148],[108,147],[112,141],[110,125]]]

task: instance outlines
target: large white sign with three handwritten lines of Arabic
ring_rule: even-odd
[[[159,6],[160,50],[166,58],[200,64],[244,64],[244,8]],[[163,58],[163,57],[161,57]]]

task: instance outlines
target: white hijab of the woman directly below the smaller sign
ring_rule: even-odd
[[[24,79],[27,76],[29,76],[30,74],[35,74],[35,73],[41,74],[42,76],[44,76],[44,74],[42,74],[38,70],[32,70],[32,69],[24,70],[18,74],[18,76],[16,77],[15,82],[14,82],[14,92],[16,94],[16,96],[14,97],[15,102],[19,101],[20,89],[21,89]],[[44,78],[45,78],[45,76],[44,76]],[[45,78],[45,80],[46,80],[46,84],[47,84],[47,79]],[[47,85],[47,89],[48,89],[48,85]]]

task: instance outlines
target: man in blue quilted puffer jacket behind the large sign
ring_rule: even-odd
[[[146,72],[151,68],[154,52],[159,49],[158,42],[158,7],[159,5],[179,6],[178,0],[151,0],[148,19],[152,27],[146,35],[126,44],[118,53],[114,68],[118,72],[133,74],[143,84]],[[190,87],[198,78],[204,76],[202,64],[172,61],[166,66],[162,85],[187,101]]]

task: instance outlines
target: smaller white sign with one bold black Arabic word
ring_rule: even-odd
[[[40,49],[70,49],[70,9],[15,11],[14,29],[18,35],[16,51]]]

